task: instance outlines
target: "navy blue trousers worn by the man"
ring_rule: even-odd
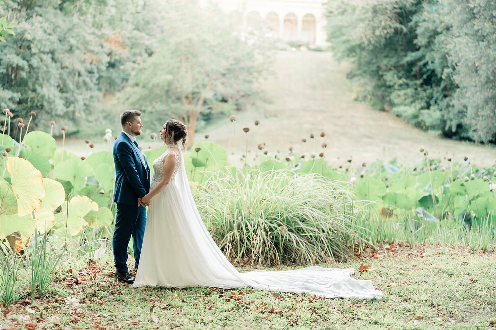
[[[134,247],[134,267],[138,267],[143,235],[145,233],[146,209],[143,206],[117,203],[116,226],[112,239],[116,269],[120,273],[127,273],[127,244],[132,236]]]

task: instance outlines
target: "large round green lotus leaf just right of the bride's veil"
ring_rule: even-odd
[[[194,151],[200,148],[200,151]],[[224,165],[227,165],[227,151],[220,144],[214,142],[201,141],[191,147],[189,153],[191,164],[194,166],[205,167],[209,171],[216,171]]]

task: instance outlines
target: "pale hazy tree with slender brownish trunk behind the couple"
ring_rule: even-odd
[[[123,92],[130,108],[148,117],[168,116],[185,122],[188,145],[194,141],[200,114],[230,112],[263,99],[257,87],[272,63],[268,38],[243,35],[218,7],[169,3],[164,37],[136,66],[131,86]]]

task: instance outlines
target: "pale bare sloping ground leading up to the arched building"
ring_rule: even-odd
[[[271,154],[280,150],[284,157],[289,147],[298,154],[306,153],[307,157],[315,149],[317,153],[324,151],[320,147],[324,139],[319,136],[323,131],[328,145],[326,159],[333,164],[343,163],[351,156],[354,164],[376,159],[389,161],[395,157],[401,163],[411,164],[422,156],[420,146],[431,157],[462,160],[467,156],[479,166],[496,162],[493,145],[443,139],[353,100],[350,82],[345,77],[350,64],[338,64],[330,52],[280,51],[276,56],[274,74],[262,83],[273,102],[236,113],[236,134],[230,145],[234,127],[229,116],[197,132],[195,142],[204,141],[204,135],[208,134],[208,141],[226,148],[229,145],[229,161],[239,164],[246,149],[244,127],[250,129],[248,163],[253,162],[255,153],[260,154],[259,143],[265,143],[264,150]],[[254,125],[256,119],[260,120],[259,126]],[[312,133],[316,137],[313,140]],[[302,142],[303,138],[307,139],[306,143]],[[66,148],[84,156],[86,147],[81,142],[68,141]],[[147,144],[145,147],[153,146]],[[109,150],[103,141],[95,145],[95,151]]]

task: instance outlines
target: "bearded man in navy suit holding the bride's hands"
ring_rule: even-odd
[[[125,283],[133,283],[134,278],[127,270],[127,244],[132,236],[134,247],[134,269],[138,268],[143,234],[145,232],[145,204],[138,198],[150,189],[150,168],[145,155],[136,142],[141,134],[141,112],[126,110],[121,114],[123,130],[114,143],[114,163],[116,165],[116,188],[114,202],[117,203],[117,216],[112,239],[117,278]]]

